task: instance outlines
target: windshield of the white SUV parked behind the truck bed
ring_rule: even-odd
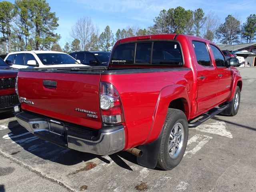
[[[78,62],[68,54],[38,53],[36,55],[44,65],[78,64]]]

